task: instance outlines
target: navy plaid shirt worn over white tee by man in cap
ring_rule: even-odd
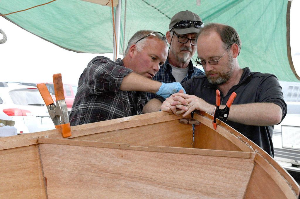
[[[188,64],[189,70],[187,72],[187,76],[180,82],[184,82],[188,79],[191,79],[193,76],[204,75],[205,73],[201,71],[199,68],[194,67],[193,62],[190,61]],[[153,80],[164,83],[172,83],[176,82],[174,76],[172,75],[172,67],[169,64],[169,59],[161,66],[157,74],[153,77]],[[157,95],[154,93],[147,93],[149,100],[155,98]]]

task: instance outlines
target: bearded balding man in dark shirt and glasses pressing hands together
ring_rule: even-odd
[[[203,66],[206,76],[196,76],[182,83],[187,94],[173,94],[163,103],[158,97],[147,106],[183,116],[194,110],[213,114],[216,90],[221,95],[220,109],[235,92],[237,96],[226,123],[273,157],[274,125],[283,120],[287,111],[283,93],[274,75],[239,67],[240,49],[241,41],[234,28],[206,25],[197,35],[197,63]],[[147,107],[144,109],[146,111]]]

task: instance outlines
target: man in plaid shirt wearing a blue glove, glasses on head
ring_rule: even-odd
[[[129,40],[123,60],[92,59],[79,78],[70,124],[141,114],[148,102],[145,92],[167,98],[182,89],[178,82],[151,80],[167,59],[167,46],[164,34],[140,30]]]

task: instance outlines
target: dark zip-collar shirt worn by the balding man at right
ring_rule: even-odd
[[[247,104],[254,102],[271,102],[282,109],[282,119],[286,115],[287,107],[283,100],[283,93],[277,78],[272,74],[250,72],[248,67],[243,68],[244,72],[239,83],[233,86],[226,96],[221,92],[221,105],[225,105],[232,92],[236,93],[234,104]],[[217,86],[208,82],[205,75],[195,76],[182,83],[183,88],[189,95],[202,98],[210,104],[216,102]],[[272,114],[265,110],[268,114]],[[230,111],[229,111],[230,114]],[[251,114],[251,112],[249,112]],[[274,156],[272,135],[274,126],[253,126],[227,121],[226,124],[252,140],[272,157]]]

